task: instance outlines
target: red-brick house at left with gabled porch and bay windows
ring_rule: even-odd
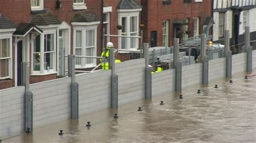
[[[30,82],[65,75],[65,55],[102,52],[102,1],[19,0],[0,2],[0,89],[22,84],[21,62],[30,63]],[[76,59],[76,68],[97,61]]]

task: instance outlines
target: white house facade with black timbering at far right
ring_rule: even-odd
[[[256,0],[214,0],[213,41],[223,42],[224,30],[230,30],[231,45],[244,41],[245,26],[250,26],[251,40],[256,37]]]

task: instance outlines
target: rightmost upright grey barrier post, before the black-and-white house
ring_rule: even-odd
[[[252,72],[252,46],[250,46],[250,27],[245,27],[245,50],[247,53],[246,71]]]

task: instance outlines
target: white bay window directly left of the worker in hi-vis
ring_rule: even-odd
[[[75,30],[75,54],[96,56],[96,28]],[[96,66],[96,59],[76,58],[76,68],[91,68]]]

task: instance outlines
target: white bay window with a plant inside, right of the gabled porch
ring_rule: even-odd
[[[56,71],[56,33],[37,35],[32,46],[32,74]]]

